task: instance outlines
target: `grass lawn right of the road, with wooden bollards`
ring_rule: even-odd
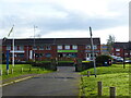
[[[103,82],[103,96],[109,97],[109,87],[116,87],[116,95],[121,98],[129,98],[129,68],[131,65],[126,64],[126,69],[122,64],[114,64],[111,66],[97,68],[97,77],[95,77],[94,69],[83,71],[81,74],[86,75],[87,71],[91,72],[91,77],[83,76],[81,82],[81,96],[87,96],[90,98],[97,97],[97,82]],[[83,89],[82,89],[83,88]],[[118,98],[119,98],[118,97]]]

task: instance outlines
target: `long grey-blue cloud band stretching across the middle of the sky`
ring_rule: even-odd
[[[48,3],[49,4],[49,3]],[[59,17],[45,17],[45,16],[37,16],[35,17],[35,12],[34,16],[26,17],[26,14],[28,14],[26,8],[33,7],[32,3],[23,3],[21,4],[24,9],[20,9],[20,13],[15,13],[15,11],[10,13],[10,15],[3,15],[2,22],[3,24],[0,24],[1,27],[4,26],[10,26],[13,23],[16,25],[16,27],[29,27],[32,28],[33,25],[37,25],[39,29],[41,29],[41,33],[48,33],[48,32],[53,32],[53,30],[87,30],[88,26],[92,26],[93,29],[103,29],[103,28],[110,28],[115,26],[120,26],[120,25],[127,25],[127,16],[121,15],[118,16],[117,19],[102,19],[102,17],[90,17],[81,12],[78,11],[68,11],[61,5],[58,4],[50,4],[51,9],[60,11],[60,12],[66,12],[68,13],[67,17],[59,19]],[[45,4],[41,4],[45,5]],[[44,8],[44,7],[43,7]],[[46,8],[44,8],[46,9]],[[10,9],[8,9],[10,12]],[[12,9],[11,9],[12,10]],[[40,9],[41,10],[41,9]],[[5,10],[7,11],[7,10]],[[16,10],[19,11],[19,10]],[[22,14],[21,14],[22,11]],[[48,11],[48,10],[47,10]],[[12,11],[11,11],[12,12]],[[25,12],[26,14],[23,14]],[[43,12],[41,12],[43,13]],[[46,14],[46,12],[45,12]],[[21,19],[21,16],[25,15],[25,19]],[[35,17],[35,19],[34,19]],[[10,22],[9,22],[10,21]],[[20,32],[21,33],[21,32]]]

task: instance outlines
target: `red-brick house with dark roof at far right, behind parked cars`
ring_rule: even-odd
[[[112,46],[112,56],[130,58],[131,42],[115,42]]]

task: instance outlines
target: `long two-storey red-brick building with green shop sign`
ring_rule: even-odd
[[[100,54],[100,39],[93,38],[95,56]],[[7,39],[2,44],[2,52],[7,50],[12,59],[12,39]],[[14,47],[15,61],[48,60],[58,58],[59,60],[81,58],[85,60],[92,57],[91,38],[27,38],[15,39]]]

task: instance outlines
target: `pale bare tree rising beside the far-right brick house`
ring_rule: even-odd
[[[107,39],[107,50],[108,50],[109,53],[111,53],[114,42],[115,42],[115,36],[109,35],[109,37]]]

